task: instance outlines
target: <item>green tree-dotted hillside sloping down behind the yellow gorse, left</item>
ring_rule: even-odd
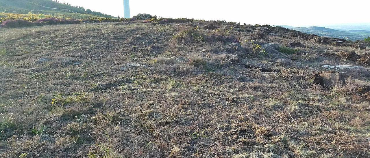
[[[39,6],[41,5],[41,6]],[[42,7],[45,6],[45,7]],[[46,8],[50,7],[50,8]],[[28,14],[29,12],[34,14],[48,14],[48,15],[54,15],[54,14],[69,14],[73,15],[74,17],[81,17],[81,14],[76,14],[68,11],[63,10],[55,10],[51,8],[59,8],[59,9],[67,9],[70,11],[74,11],[77,13],[82,14],[89,14],[92,16],[98,16],[98,17],[108,17],[108,18],[114,18],[113,16],[102,14],[95,11],[86,11],[87,8],[83,7],[74,7],[67,4],[58,3],[52,0],[0,0],[0,12],[7,12],[7,13],[20,13],[20,14]],[[84,17],[82,15],[82,17]]]

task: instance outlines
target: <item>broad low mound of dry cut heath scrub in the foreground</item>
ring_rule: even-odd
[[[0,37],[2,157],[370,157],[366,44],[206,21]]]

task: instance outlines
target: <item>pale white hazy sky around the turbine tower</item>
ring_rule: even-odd
[[[123,17],[123,0],[58,0]],[[370,23],[370,0],[130,0],[131,16],[226,20],[241,24],[292,25]]]

